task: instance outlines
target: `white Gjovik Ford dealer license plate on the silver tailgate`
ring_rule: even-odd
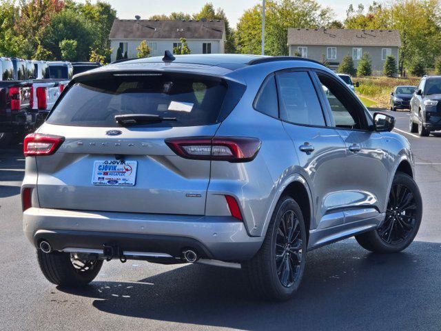
[[[95,161],[92,185],[133,186],[136,181],[136,161]]]

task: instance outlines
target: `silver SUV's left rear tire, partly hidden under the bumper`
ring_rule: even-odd
[[[37,258],[41,272],[48,281],[55,285],[71,288],[88,285],[94,280],[103,265],[103,260],[88,260],[87,263],[92,261],[93,263],[90,264],[90,268],[87,270],[82,270],[74,266],[70,253],[63,252],[44,253],[37,250]],[[77,261],[85,262],[86,260]]]

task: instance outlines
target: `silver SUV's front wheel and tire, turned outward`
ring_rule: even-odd
[[[411,200],[409,193],[412,197]],[[394,199],[394,197],[398,197],[398,199]],[[398,201],[398,203],[394,201]],[[404,203],[404,205],[400,207],[400,203]],[[396,205],[398,205],[398,209],[396,209]],[[400,210],[403,211],[400,212]],[[356,240],[362,248],[371,252],[401,252],[415,239],[421,219],[422,199],[418,185],[408,174],[397,172],[389,194],[386,219],[376,230],[358,234]]]

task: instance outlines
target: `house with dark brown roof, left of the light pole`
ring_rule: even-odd
[[[161,56],[165,50],[173,51],[181,46],[181,38],[187,39],[192,54],[214,54],[225,52],[225,22],[181,21],[149,19],[115,19],[110,30],[111,60],[121,47],[129,59],[136,58],[141,41],[146,40],[152,57]]]

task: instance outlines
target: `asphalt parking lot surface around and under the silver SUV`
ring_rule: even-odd
[[[0,151],[0,330],[441,330],[441,132],[408,131],[424,214],[404,252],[376,255],[347,239],[309,252],[294,300],[254,301],[240,270],[105,263],[83,290],[41,274],[21,231],[20,146]]]

